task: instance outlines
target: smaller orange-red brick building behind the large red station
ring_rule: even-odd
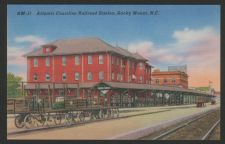
[[[188,88],[188,75],[182,71],[160,71],[152,72],[152,84],[164,86],[177,86]]]

